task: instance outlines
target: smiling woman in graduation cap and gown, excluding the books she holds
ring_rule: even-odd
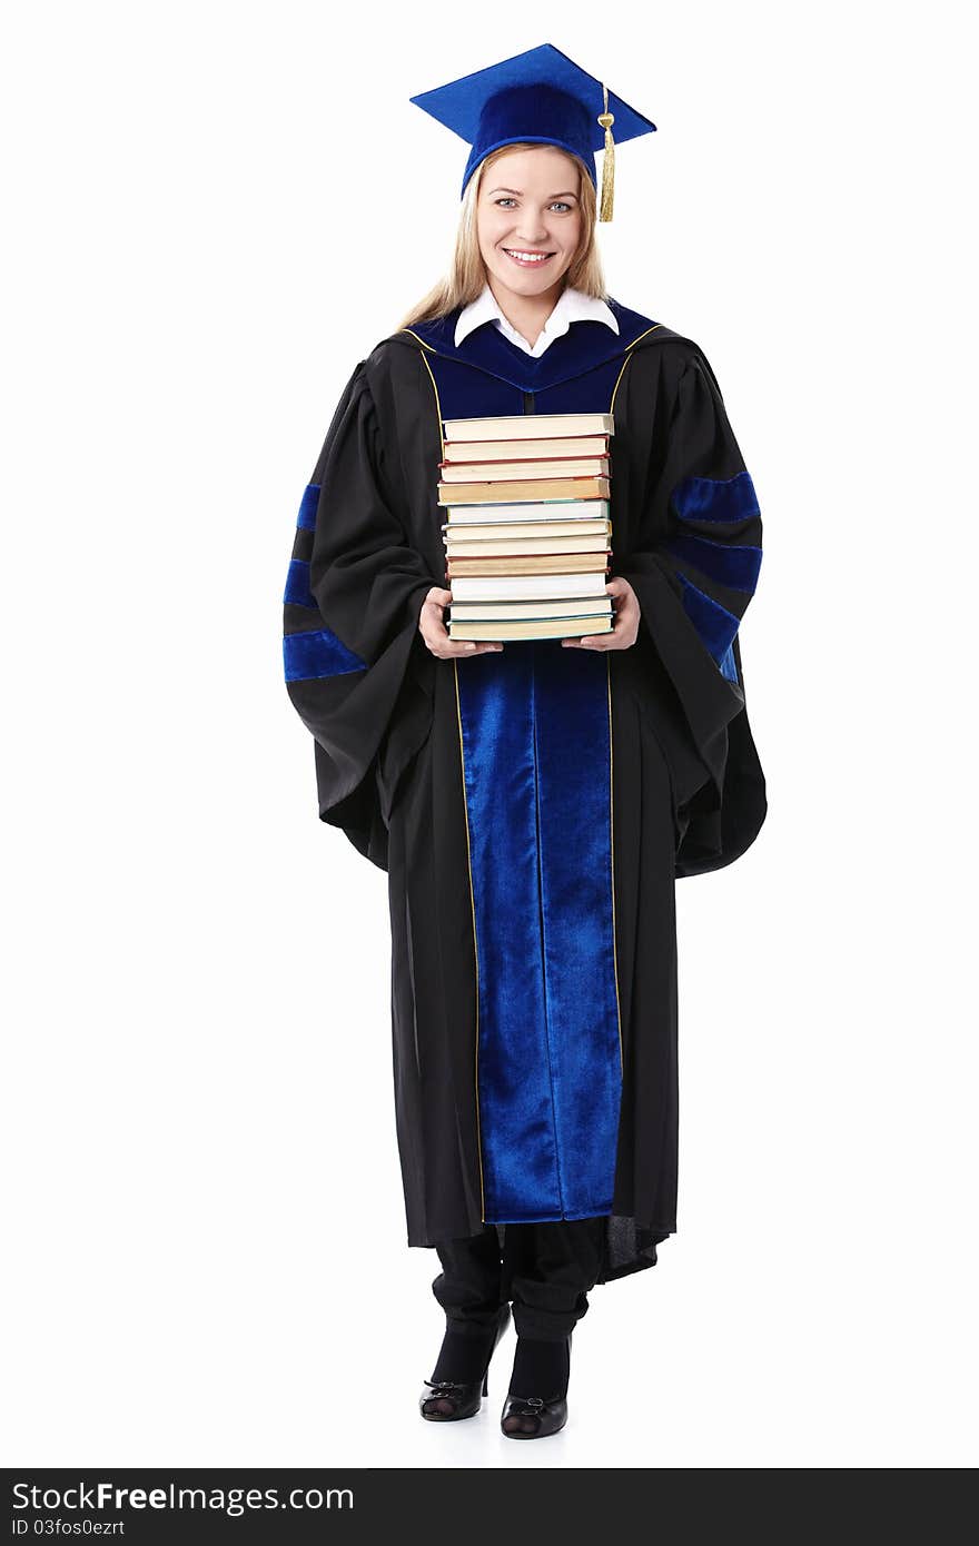
[[[676,1229],[674,878],[766,815],[738,640],[761,521],[699,346],[605,291],[594,152],[611,213],[608,108],[619,139],[654,125],[549,45],[413,100],[472,142],[455,260],[326,433],[286,682],[322,819],[388,872],[408,1245],[445,1311],[421,1411],[479,1410],[512,1305],[501,1429],[538,1438],[589,1289]],[[442,425],[524,413],[612,414],[614,626],[453,640]]]

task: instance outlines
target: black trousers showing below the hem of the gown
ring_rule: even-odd
[[[507,1224],[503,1248],[495,1224],[461,1240],[442,1240],[436,1245],[442,1271],[432,1292],[453,1330],[472,1326],[484,1334],[509,1300],[518,1336],[563,1340],[588,1313],[605,1228],[605,1217]]]

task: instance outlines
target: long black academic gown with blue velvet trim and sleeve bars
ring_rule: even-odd
[[[459,309],[384,339],[303,493],[285,674],[320,818],[388,875],[408,1245],[606,1218],[599,1282],[676,1229],[674,880],[766,816],[739,621],[761,564],[750,473],[702,349],[609,300],[538,359]],[[442,421],[614,414],[623,651],[504,642],[438,660]]]

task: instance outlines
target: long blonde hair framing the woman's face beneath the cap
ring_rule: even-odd
[[[507,152],[535,148],[538,147],[530,142],[501,145],[500,150],[490,152],[490,155],[479,164],[466,184],[466,193],[462,195],[456,244],[449,274],[439,280],[439,283],[430,289],[416,306],[411,308],[407,317],[399,322],[396,329],[397,332],[404,332],[405,328],[410,328],[416,322],[430,322],[435,317],[444,317],[456,306],[469,306],[469,303],[476,300],[476,297],[483,292],[486,284],[486,264],[483,261],[483,254],[479,252],[479,238],[476,233],[476,203],[479,199],[483,176],[489,172],[493,162],[498,161],[500,156],[507,155]],[[580,156],[572,155],[572,152],[565,152],[565,155],[574,161],[580,173],[578,204],[582,210],[582,238],[565,274],[565,284],[583,291],[585,295],[608,300],[609,297],[605,288],[602,258],[595,246],[595,223],[599,216],[595,186],[591,181],[588,167]]]

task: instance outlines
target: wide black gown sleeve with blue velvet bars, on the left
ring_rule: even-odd
[[[442,583],[407,538],[362,360],[300,501],[283,595],[283,666],[314,739],[320,819],[380,869],[391,759],[404,764],[430,722],[418,618],[425,594]]]

